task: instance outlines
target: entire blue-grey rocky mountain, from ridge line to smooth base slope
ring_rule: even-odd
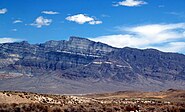
[[[85,38],[0,44],[0,90],[92,93],[185,89],[185,55]]]

